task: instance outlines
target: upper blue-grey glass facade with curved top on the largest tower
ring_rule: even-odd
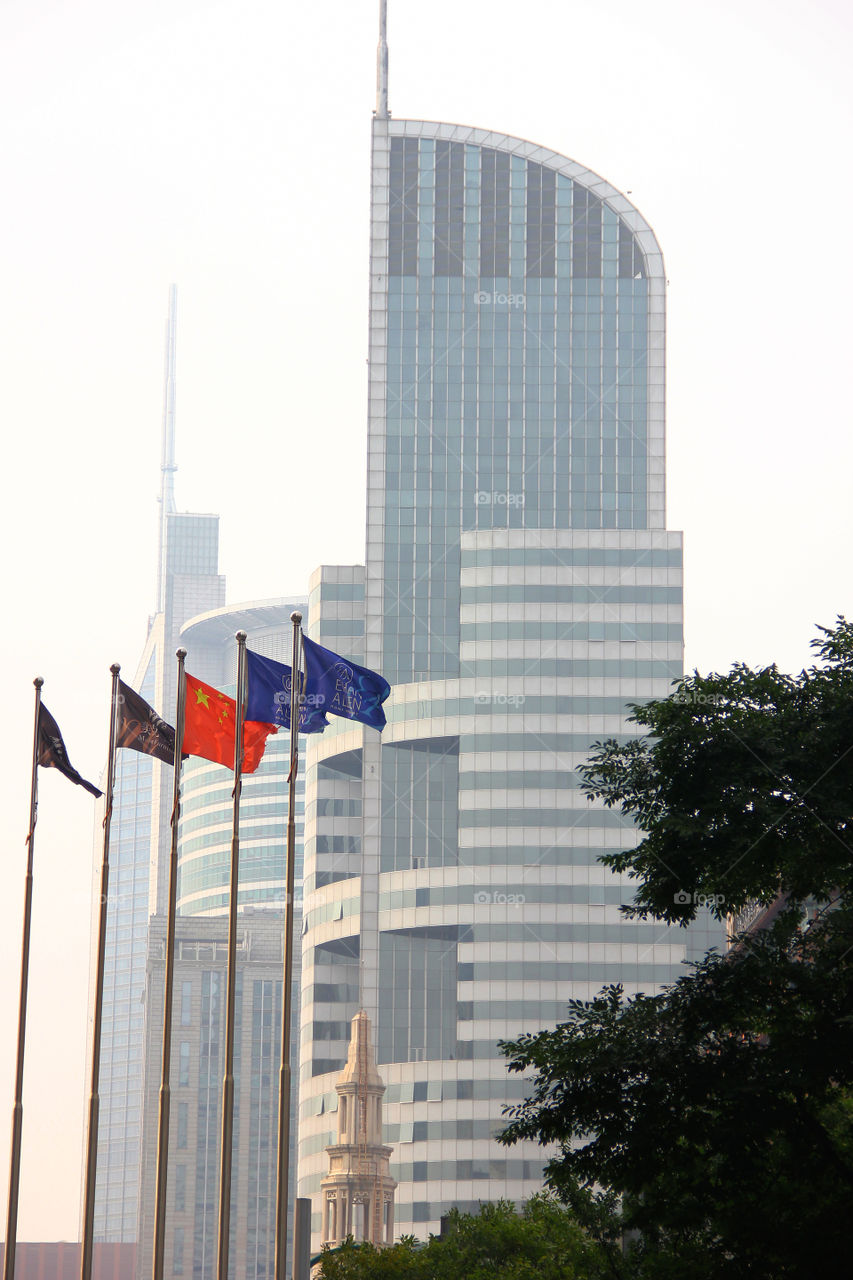
[[[439,125],[379,132],[386,389],[371,466],[398,605],[382,652],[401,682],[460,673],[460,530],[662,526],[649,392],[662,389],[663,264],[628,201],[560,156]]]

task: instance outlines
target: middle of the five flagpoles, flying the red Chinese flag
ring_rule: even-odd
[[[160,1071],[160,1114],[158,1117],[158,1174],[154,1201],[154,1280],[163,1280],[165,1257],[167,1181],[169,1174],[169,1107],[172,1103],[172,992],[174,987],[174,919],[178,897],[178,818],[181,817],[181,744],[187,681],[183,672],[186,649],[178,659],[178,695],[174,713],[174,787],[172,792],[172,847],[169,852],[169,911],[167,923],[165,988],[163,995],[163,1066]]]

